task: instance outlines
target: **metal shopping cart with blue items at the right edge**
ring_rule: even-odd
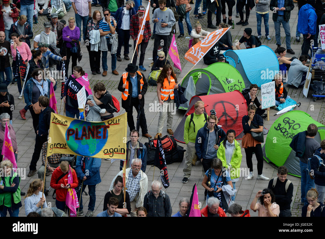
[[[313,89],[313,101],[325,97],[325,52],[321,47],[312,47],[310,87]]]

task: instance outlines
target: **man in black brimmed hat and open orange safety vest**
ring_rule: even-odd
[[[117,87],[122,92],[122,107],[127,113],[127,123],[130,131],[135,129],[133,120],[133,107],[139,115],[139,123],[142,130],[142,136],[151,138],[148,134],[147,120],[144,113],[144,95],[147,92],[148,83],[144,75],[137,71],[138,67],[132,63],[127,65],[124,73],[121,76],[120,84]]]

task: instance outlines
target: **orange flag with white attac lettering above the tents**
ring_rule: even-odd
[[[186,53],[185,59],[196,65],[217,41],[230,29],[221,28],[208,34],[202,41],[192,46]]]

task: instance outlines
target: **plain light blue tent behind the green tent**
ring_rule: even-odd
[[[272,81],[279,73],[279,61],[273,50],[268,46],[251,49],[227,50],[226,59],[241,74],[245,86],[256,84],[258,87]]]

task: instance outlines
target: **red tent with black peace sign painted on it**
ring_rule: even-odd
[[[183,119],[177,126],[174,137],[177,141],[184,143],[184,124],[186,117],[194,112],[194,104],[196,101],[202,100],[204,102],[204,112],[210,115],[210,110],[214,109],[218,117],[218,125],[227,132],[228,129],[236,131],[236,139],[241,139],[243,134],[243,127],[241,119],[247,114],[247,104],[240,91],[193,96],[189,102],[189,107]]]

